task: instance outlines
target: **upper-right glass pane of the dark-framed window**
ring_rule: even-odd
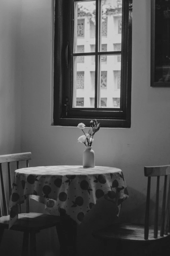
[[[122,0],[102,0],[100,51],[116,51],[114,44],[120,44],[121,50],[121,18]],[[106,47],[103,48],[102,45]]]

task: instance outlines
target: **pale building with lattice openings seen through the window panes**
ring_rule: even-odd
[[[78,2],[76,52],[95,52],[95,1]],[[119,6],[120,5],[120,6]],[[101,52],[121,51],[121,1],[102,0]],[[118,11],[112,11],[117,8]],[[73,107],[94,107],[95,56],[77,56]],[[121,55],[100,56],[99,107],[120,108]]]

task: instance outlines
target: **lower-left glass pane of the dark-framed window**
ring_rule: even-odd
[[[78,62],[79,57],[74,57],[73,108],[94,108],[95,59],[93,65],[93,56],[81,56],[84,62]]]

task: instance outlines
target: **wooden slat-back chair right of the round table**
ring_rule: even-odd
[[[170,220],[169,220],[170,218],[169,216],[170,215],[170,181],[169,181],[167,203],[166,203],[167,175],[170,175],[170,165],[144,167],[144,174],[146,177],[148,177],[145,225],[136,225],[131,223],[115,224],[115,225],[106,227],[102,230],[97,230],[96,232],[93,232],[93,236],[104,240],[105,245],[108,240],[114,240],[114,241],[117,240],[117,242],[120,242],[120,240],[122,240],[126,243],[140,242],[140,245],[144,245],[144,247],[146,245],[145,253],[150,255],[150,252],[148,250],[149,247],[151,246],[151,248],[153,249],[155,245],[158,243],[158,240],[163,242],[163,239],[170,235]],[[155,216],[154,216],[154,226],[149,226],[150,184],[151,184],[151,177],[154,177],[154,176],[157,177]],[[164,188],[163,188],[161,226],[158,226],[160,176],[164,176]]]

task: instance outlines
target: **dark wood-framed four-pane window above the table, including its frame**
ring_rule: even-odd
[[[57,0],[54,125],[131,126],[132,0]]]

